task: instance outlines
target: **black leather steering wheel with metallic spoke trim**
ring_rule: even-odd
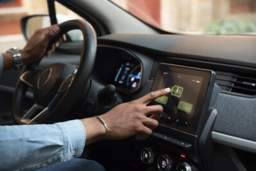
[[[96,55],[96,34],[89,22],[79,20],[59,24],[55,40],[70,31],[81,30],[84,38],[79,66],[56,63],[37,70],[37,63],[23,66],[12,101],[12,115],[18,124],[54,123],[63,119],[74,107],[93,71]],[[34,105],[26,112],[23,104],[28,86],[33,89]]]

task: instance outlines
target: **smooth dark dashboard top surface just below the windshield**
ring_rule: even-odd
[[[165,55],[256,67],[256,36],[113,34],[99,43],[137,46]]]

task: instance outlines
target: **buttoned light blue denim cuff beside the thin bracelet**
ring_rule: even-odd
[[[86,144],[86,131],[80,120],[55,123],[62,132],[64,161],[82,156]]]

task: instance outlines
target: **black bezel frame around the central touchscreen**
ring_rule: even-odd
[[[202,115],[203,109],[205,107],[206,94],[208,92],[208,88],[209,88],[209,85],[211,82],[210,80],[212,78],[213,71],[208,70],[208,69],[199,69],[199,68],[195,68],[195,67],[178,66],[178,65],[174,65],[174,64],[160,63],[160,66],[158,67],[156,76],[154,78],[154,82],[153,82],[151,91],[157,90],[158,84],[156,84],[156,83],[160,81],[161,71],[163,71],[163,69],[165,69],[165,71],[167,71],[167,69],[169,69],[172,73],[181,73],[181,74],[185,74],[185,75],[203,77],[203,82],[202,82],[201,89],[200,89],[199,95],[197,97],[196,106],[194,109],[194,114],[196,114],[197,116],[196,116],[196,120],[195,120],[194,124],[192,125],[192,127],[184,128],[184,127],[179,127],[179,126],[173,126],[168,123],[160,121],[160,125],[169,127],[170,129],[175,129],[177,131],[184,132],[186,134],[190,134],[192,136],[196,136],[197,129],[198,129],[198,126],[199,126],[199,123],[201,120],[201,115]]]

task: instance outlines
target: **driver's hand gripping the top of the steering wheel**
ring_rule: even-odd
[[[65,35],[62,39],[59,39],[55,44],[52,45],[51,49],[46,49],[48,43],[50,42],[57,33],[59,33],[60,28],[57,24],[50,26],[48,28],[42,28],[35,31],[35,33],[30,37],[26,46],[21,51],[24,64],[30,64],[39,60],[43,55],[48,57],[55,48],[57,48],[62,40],[66,40]]]

